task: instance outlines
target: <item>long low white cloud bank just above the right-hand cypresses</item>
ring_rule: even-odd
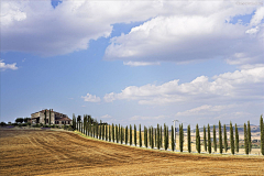
[[[178,79],[163,85],[129,86],[121,92],[107,94],[107,102],[113,100],[136,100],[140,105],[165,105],[172,102],[206,101],[211,99],[238,100],[263,99],[264,66],[213,76],[200,76],[190,82],[178,84]]]

